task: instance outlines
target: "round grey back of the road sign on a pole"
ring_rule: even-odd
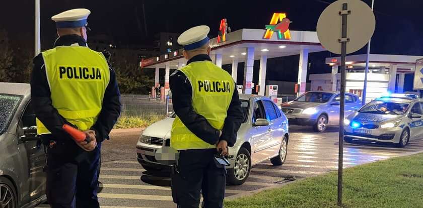
[[[370,7],[361,0],[339,0],[329,5],[317,22],[317,36],[328,51],[341,54],[342,4],[347,4],[346,53],[353,53],[366,45],[375,31],[375,15]]]

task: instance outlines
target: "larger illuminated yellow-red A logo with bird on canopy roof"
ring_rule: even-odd
[[[285,13],[273,13],[270,24],[266,25],[266,33],[263,39],[272,38],[273,32],[276,32],[278,40],[291,40],[289,29],[291,23]]]

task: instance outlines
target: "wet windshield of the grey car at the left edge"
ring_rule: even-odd
[[[22,96],[0,94],[0,135],[6,132]]]

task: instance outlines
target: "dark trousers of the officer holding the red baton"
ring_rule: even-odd
[[[86,152],[73,140],[43,138],[46,145],[47,200],[52,208],[98,208],[100,147]]]

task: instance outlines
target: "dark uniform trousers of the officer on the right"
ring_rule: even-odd
[[[226,169],[214,155],[216,149],[181,150],[175,174],[172,175],[172,196],[179,208],[198,208],[200,191],[205,208],[223,207]]]

